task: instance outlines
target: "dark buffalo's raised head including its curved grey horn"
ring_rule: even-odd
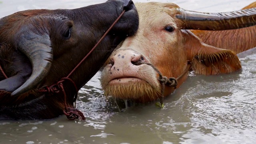
[[[123,10],[121,19],[70,77],[81,88],[112,50],[138,29],[131,0],[108,0],[73,10],[26,10],[0,19],[0,64],[8,76],[4,79],[0,74],[0,90],[19,96],[67,76]]]

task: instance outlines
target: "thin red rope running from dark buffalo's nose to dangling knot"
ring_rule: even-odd
[[[86,54],[86,56],[76,65],[76,67],[68,74],[68,76],[61,78],[56,84],[53,84],[50,87],[46,86],[46,87],[40,88],[38,90],[38,92],[46,92],[46,93],[50,93],[50,94],[59,93],[61,90],[62,93],[64,94],[64,107],[65,108],[63,110],[63,113],[67,116],[68,119],[74,120],[76,118],[81,118],[82,120],[85,120],[85,117],[84,117],[84,114],[82,112],[80,112],[80,110],[78,110],[76,108],[68,107],[67,96],[66,96],[65,89],[63,87],[63,82],[65,80],[68,80],[69,82],[71,82],[73,84],[74,88],[76,89],[76,93],[75,93],[75,96],[73,99],[73,102],[75,102],[77,95],[78,95],[78,89],[76,87],[75,82],[72,79],[70,79],[69,77],[82,64],[82,62],[84,62],[84,60],[92,53],[92,51],[100,44],[100,42],[105,38],[105,36],[108,34],[108,32],[113,28],[113,26],[116,24],[116,22],[118,22],[118,20],[121,18],[121,16],[124,14],[124,12],[125,12],[125,10],[120,14],[120,16],[118,16],[118,18],[113,22],[113,24],[110,26],[110,28],[108,28],[108,30],[104,33],[104,35],[100,38],[100,40],[95,44],[95,46],[92,48],[92,50],[90,50],[90,52],[88,54]],[[5,78],[8,78],[5,75],[4,71],[2,70],[1,66],[0,66],[0,70],[4,74]]]

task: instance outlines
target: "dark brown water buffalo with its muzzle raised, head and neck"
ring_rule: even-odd
[[[74,69],[123,10],[120,20],[69,77],[74,84],[62,82],[64,92],[60,84],[48,88]],[[70,114],[75,86],[84,86],[112,50],[137,29],[138,13],[131,0],[73,10],[26,10],[0,19],[0,119]]]

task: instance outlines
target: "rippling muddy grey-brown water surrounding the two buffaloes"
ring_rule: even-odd
[[[103,0],[0,0],[0,17],[35,8],[78,8]],[[144,0],[150,2],[151,0]],[[158,0],[201,12],[238,10],[253,0]],[[138,2],[138,0],[137,0]],[[107,105],[99,75],[80,90],[86,121],[0,121],[0,144],[252,144],[256,141],[256,50],[239,55],[242,70],[195,76],[164,100],[118,111]]]

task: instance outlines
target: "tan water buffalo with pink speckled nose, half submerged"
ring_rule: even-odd
[[[157,2],[138,3],[136,7],[140,18],[138,32],[118,46],[102,71],[101,84],[106,96],[154,101],[178,88],[190,70],[205,75],[240,70],[236,52],[256,46],[252,26],[256,9],[200,13]],[[214,33],[215,39],[202,35],[202,41],[190,30],[211,30],[206,32],[209,37],[214,32],[218,35]],[[243,39],[245,35],[249,35],[247,39]]]

